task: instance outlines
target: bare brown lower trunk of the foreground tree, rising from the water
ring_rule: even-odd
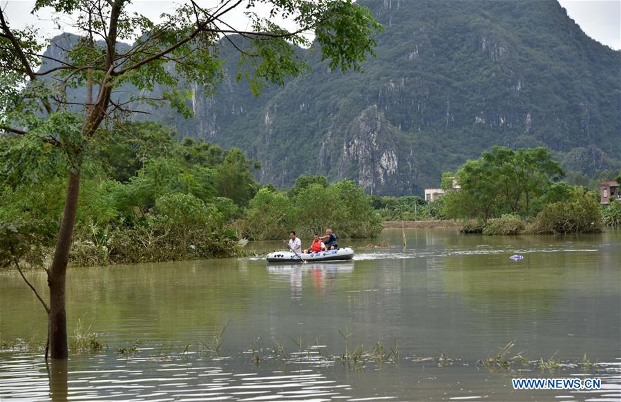
[[[65,312],[65,279],[67,262],[75,224],[77,199],[79,195],[80,173],[69,173],[67,195],[63,220],[58,233],[58,242],[54,252],[54,260],[48,274],[50,287],[50,351],[52,359],[66,360],[67,349],[67,316]]]

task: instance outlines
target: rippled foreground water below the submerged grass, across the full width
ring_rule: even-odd
[[[595,376],[602,389],[592,391],[513,391],[510,377],[490,374],[466,364],[439,366],[412,363],[400,367],[367,367],[361,372],[342,366],[319,367],[303,354],[296,363],[278,367],[240,364],[234,358],[203,358],[179,354],[165,359],[154,351],[145,356],[115,358],[113,353],[74,356],[65,381],[48,380],[42,356],[14,354],[9,366],[0,361],[0,399],[23,401],[619,401],[621,360],[595,363],[582,372],[567,365],[559,372],[533,370],[522,374],[537,377]],[[296,354],[296,353],[294,353]],[[0,356],[3,356],[0,352]],[[3,356],[4,357],[4,356]],[[534,367],[533,367],[534,368]],[[11,369],[11,370],[9,370]],[[64,372],[64,374],[62,374]],[[51,373],[50,373],[51,374]],[[440,396],[440,397],[437,397]]]

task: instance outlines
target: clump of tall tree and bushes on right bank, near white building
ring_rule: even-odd
[[[553,182],[562,176],[560,165],[546,149],[512,151],[494,146],[457,171],[461,189],[443,197],[444,212],[480,222],[472,227],[465,224],[464,233],[481,229],[488,235],[518,234],[525,229],[520,216],[535,214],[528,227],[533,233],[600,231],[602,213],[596,194]]]

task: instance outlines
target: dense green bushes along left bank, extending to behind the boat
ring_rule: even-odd
[[[73,265],[236,256],[236,232],[282,239],[292,230],[302,236],[332,227],[341,237],[375,236],[381,230],[370,197],[354,182],[328,184],[325,177],[307,177],[289,193],[274,186],[257,192],[257,165],[237,149],[179,142],[169,128],[153,123],[124,124],[122,131],[132,133],[124,142],[116,130],[100,137],[99,152],[85,154]],[[21,152],[30,155],[32,171],[3,171],[2,266],[10,265],[11,247],[17,258],[40,265],[58,233],[66,180],[57,172],[64,167],[59,162],[50,169],[46,153],[31,146],[38,141],[0,139],[6,160],[15,155],[12,150],[23,151],[24,144],[32,150]]]

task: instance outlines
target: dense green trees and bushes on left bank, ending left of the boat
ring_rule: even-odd
[[[132,136],[120,142],[118,131]],[[236,150],[195,140],[178,142],[175,137],[157,124],[124,124],[99,138],[96,153],[86,153],[72,264],[239,253],[237,238],[226,225],[240,216],[240,206],[219,196],[219,172],[236,169],[227,175],[231,186],[252,189],[254,162]],[[6,162],[0,172],[2,266],[10,264],[11,249],[32,264],[41,265],[50,256],[66,189],[64,164],[50,157],[54,152],[35,135],[0,137],[0,158]],[[21,159],[15,160],[16,155]]]

